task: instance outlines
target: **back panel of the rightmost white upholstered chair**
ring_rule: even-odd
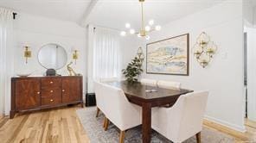
[[[187,140],[202,131],[202,121],[208,100],[208,91],[200,91],[182,95],[173,106],[176,120],[169,125],[176,126],[177,140]]]

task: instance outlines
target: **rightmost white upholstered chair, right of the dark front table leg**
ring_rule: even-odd
[[[208,91],[189,93],[180,96],[171,108],[152,109],[152,128],[175,143],[193,135],[200,143],[207,99]]]

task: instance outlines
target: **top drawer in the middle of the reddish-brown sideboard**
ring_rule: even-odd
[[[61,88],[61,78],[42,78],[42,89]]]

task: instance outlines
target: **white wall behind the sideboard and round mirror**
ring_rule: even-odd
[[[74,71],[86,75],[86,29],[74,22],[58,21],[42,16],[33,16],[19,12],[14,23],[16,33],[15,43],[15,74],[35,72],[33,75],[42,76],[44,69],[37,60],[39,49],[48,43],[56,43],[67,51],[68,62],[72,60],[72,47],[79,51],[77,64],[73,65]],[[32,58],[25,63],[23,58],[23,46],[29,45]],[[67,75],[66,66],[57,71],[61,75]],[[10,102],[5,103],[5,113],[10,112]]]

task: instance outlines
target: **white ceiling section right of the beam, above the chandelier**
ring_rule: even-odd
[[[188,16],[202,9],[221,3],[223,0],[145,0],[145,21],[154,19],[156,24]],[[125,22],[132,28],[140,27],[140,4],[138,0],[101,0],[93,9],[88,22],[108,28],[125,29]],[[188,23],[189,24],[189,23]]]

